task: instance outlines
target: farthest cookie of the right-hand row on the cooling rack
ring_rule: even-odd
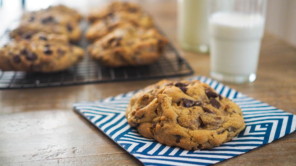
[[[98,19],[102,19],[114,12],[119,11],[125,11],[131,14],[143,13],[143,10],[137,4],[125,1],[113,1],[107,6],[103,6],[100,9],[92,10],[88,16],[88,19],[90,22],[95,22]]]

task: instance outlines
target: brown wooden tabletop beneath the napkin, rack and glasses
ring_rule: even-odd
[[[141,1],[176,43],[176,1]],[[209,76],[209,56],[181,51],[195,74]],[[265,35],[254,83],[230,85],[296,114],[296,49]],[[173,78],[174,80],[182,78]],[[141,165],[88,121],[72,103],[143,88],[158,80],[0,91],[0,165]],[[217,165],[295,165],[296,132]]]

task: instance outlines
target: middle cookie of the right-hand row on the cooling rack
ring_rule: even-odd
[[[109,32],[112,32],[122,24],[130,22],[134,26],[143,28],[153,27],[153,21],[146,13],[113,12],[106,17],[97,20],[86,31],[86,38],[90,41],[101,38]]]

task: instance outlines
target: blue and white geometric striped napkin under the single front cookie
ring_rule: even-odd
[[[137,91],[96,102],[75,103],[74,110],[139,159],[144,165],[210,165],[245,153],[295,131],[296,115],[248,97],[211,78],[196,76],[237,103],[246,128],[229,142],[205,150],[185,150],[142,137],[125,118],[126,106]]]

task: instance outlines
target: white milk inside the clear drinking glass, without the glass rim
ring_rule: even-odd
[[[256,77],[264,23],[260,14],[213,13],[209,17],[211,72]]]

